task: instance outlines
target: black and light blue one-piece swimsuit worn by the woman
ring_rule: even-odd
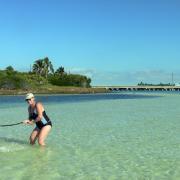
[[[52,126],[52,123],[51,123],[51,120],[50,118],[47,116],[46,112],[43,111],[43,117],[40,121],[37,121],[36,122],[36,127],[38,129],[42,129],[44,126],[47,126],[47,125],[50,125]],[[35,120],[36,118],[38,117],[38,114],[36,112],[36,106],[35,106],[35,109],[34,109],[34,112],[30,113],[29,115],[29,119],[31,120]]]

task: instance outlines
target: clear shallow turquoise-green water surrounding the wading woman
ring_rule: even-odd
[[[27,117],[0,96],[0,124]],[[180,94],[38,96],[53,121],[46,148],[33,127],[0,127],[0,179],[180,179]]]

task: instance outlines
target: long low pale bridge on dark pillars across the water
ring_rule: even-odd
[[[93,86],[109,91],[180,91],[180,86]]]

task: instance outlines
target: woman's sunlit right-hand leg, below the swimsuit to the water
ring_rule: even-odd
[[[45,139],[47,138],[49,132],[51,131],[51,126],[50,125],[46,125],[44,126],[40,132],[39,132],[39,136],[38,136],[38,143],[41,146],[45,146]]]

